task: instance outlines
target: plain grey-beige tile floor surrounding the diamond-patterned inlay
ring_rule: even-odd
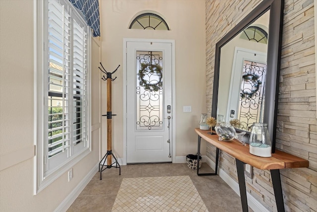
[[[212,172],[202,164],[200,173]],[[111,212],[123,178],[189,175],[209,212],[241,212],[240,197],[218,176],[197,176],[186,163],[131,164],[97,171],[67,212]],[[249,208],[249,212],[252,212]]]

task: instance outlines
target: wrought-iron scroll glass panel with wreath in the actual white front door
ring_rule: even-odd
[[[136,52],[136,130],[163,129],[163,52]]]

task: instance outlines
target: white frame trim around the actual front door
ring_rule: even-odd
[[[127,42],[170,43],[172,45],[172,163],[176,161],[176,124],[175,124],[175,40],[123,38],[123,161],[127,164]]]

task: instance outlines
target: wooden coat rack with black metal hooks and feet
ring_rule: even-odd
[[[118,160],[115,158],[115,156],[112,153],[112,116],[116,116],[115,114],[112,114],[111,112],[111,82],[113,80],[115,80],[117,77],[115,77],[114,79],[112,78],[112,74],[118,70],[118,68],[120,67],[120,65],[112,72],[107,72],[105,70],[105,68],[103,67],[103,65],[100,63],[101,67],[103,68],[103,70],[98,67],[100,69],[100,71],[104,72],[106,74],[103,75],[102,79],[107,81],[107,114],[103,115],[107,117],[107,152],[105,154],[105,156],[103,157],[103,159],[101,159],[101,161],[99,162],[99,172],[100,172],[100,179],[102,179],[102,172],[107,169],[107,168],[111,168],[111,167],[115,167],[115,168],[119,168],[119,175],[121,175],[121,167],[118,163]],[[112,156],[113,159],[115,160],[115,162],[112,163]],[[105,165],[107,160],[107,165]],[[113,164],[115,164],[115,166],[113,166]],[[104,168],[104,166],[106,166]]]

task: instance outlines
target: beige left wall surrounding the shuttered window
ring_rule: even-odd
[[[93,41],[92,152],[37,195],[34,189],[33,0],[0,0],[0,211],[52,212],[99,161],[100,44]],[[41,71],[41,70],[39,70]],[[96,169],[97,171],[97,169]]]

